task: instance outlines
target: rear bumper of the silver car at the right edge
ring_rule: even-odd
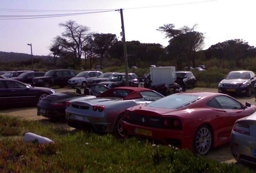
[[[235,160],[256,164],[256,137],[232,131],[230,146]]]

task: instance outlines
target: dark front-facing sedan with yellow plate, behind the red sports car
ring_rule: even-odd
[[[219,82],[219,93],[236,93],[250,97],[254,92],[256,76],[252,71],[231,71]]]

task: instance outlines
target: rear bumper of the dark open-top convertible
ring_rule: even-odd
[[[37,115],[47,117],[50,119],[65,119],[65,107],[54,110],[37,108]]]

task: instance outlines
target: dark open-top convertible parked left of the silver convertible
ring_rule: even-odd
[[[76,93],[65,92],[65,93],[54,93],[48,95],[37,104],[37,115],[47,117],[52,120],[65,119],[65,106],[66,102],[81,98],[90,99],[95,98],[95,96],[107,91],[109,87],[101,84],[89,84],[85,88],[89,92],[79,93],[80,89]],[[90,92],[91,91],[91,92]]]

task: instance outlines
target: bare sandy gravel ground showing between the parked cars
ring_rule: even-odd
[[[67,91],[75,92],[75,89],[63,88],[63,89],[56,89],[56,91],[57,92],[67,92]],[[202,91],[212,92],[212,93],[218,92],[217,89],[209,89],[209,88],[194,88],[194,89],[189,89],[187,92],[202,92]],[[250,102],[252,105],[256,104],[254,94],[252,95],[252,97],[238,97],[235,95],[233,97],[235,97],[235,99],[239,100],[243,104],[245,104],[246,102]],[[32,120],[32,121],[40,121],[45,125],[53,124],[53,122],[50,122],[47,118],[37,116],[36,107],[20,107],[15,109],[7,108],[7,109],[0,110],[0,114],[23,117],[25,119]],[[65,121],[55,122],[54,125],[57,125],[59,127],[68,127]],[[207,155],[207,157],[219,162],[226,162],[226,163],[236,162],[230,154],[229,144],[212,149]]]

